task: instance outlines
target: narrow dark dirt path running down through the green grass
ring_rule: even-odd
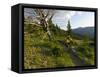
[[[64,50],[67,51],[68,47],[66,45],[64,45],[63,41],[59,41],[59,43],[64,47]],[[70,48],[71,51],[68,52],[70,54],[70,57],[73,61],[73,63],[75,64],[75,66],[85,66],[85,62],[80,60],[79,57],[76,54],[76,50],[74,48]]]

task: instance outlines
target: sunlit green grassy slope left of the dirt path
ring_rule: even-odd
[[[74,66],[69,54],[58,41],[34,38],[30,34],[25,34],[24,38],[25,69]]]

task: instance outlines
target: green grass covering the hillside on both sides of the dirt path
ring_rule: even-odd
[[[34,28],[32,28],[34,27]],[[24,68],[25,69],[39,69],[39,68],[55,68],[55,67],[69,67],[75,66],[70,53],[65,51],[64,46],[58,40],[65,41],[66,34],[53,34],[53,39],[50,41],[41,28],[35,26],[25,25],[24,32]],[[63,34],[64,32],[64,34]],[[57,32],[56,32],[57,33]],[[43,38],[44,35],[46,38]],[[73,38],[76,44],[78,57],[83,59],[87,64],[94,64],[94,48],[82,46],[83,39]],[[87,48],[86,48],[87,47]],[[83,49],[85,52],[83,53]]]

